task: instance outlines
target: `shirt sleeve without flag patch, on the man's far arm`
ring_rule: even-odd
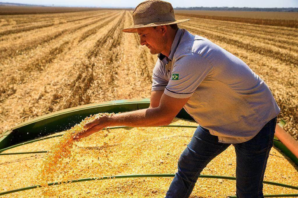
[[[164,76],[163,66],[161,64],[161,61],[158,59],[153,69],[151,91],[164,90],[167,84],[168,81]]]

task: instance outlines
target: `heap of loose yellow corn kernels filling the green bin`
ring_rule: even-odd
[[[175,118],[171,125],[197,126],[194,121]],[[70,150],[72,157],[56,168],[55,181],[61,178],[89,178],[130,174],[171,174],[177,171],[180,154],[190,142],[193,128],[140,127],[109,129],[82,139]],[[61,132],[63,133],[63,132]],[[51,138],[22,145],[3,153],[47,151],[59,142]],[[154,145],[154,146],[153,146]],[[173,146],[175,145],[175,146]],[[47,153],[0,156],[1,191],[32,186]],[[282,169],[280,167],[283,167]],[[233,146],[213,159],[204,175],[235,177]],[[298,186],[298,168],[277,148],[272,148],[264,180]],[[10,197],[164,197],[173,178],[124,178],[95,180],[50,186],[7,194]],[[291,194],[297,190],[264,184],[264,194]],[[235,195],[235,181],[199,178],[190,197]]]

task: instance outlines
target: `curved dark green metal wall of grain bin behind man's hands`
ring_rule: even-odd
[[[19,144],[38,137],[53,134],[63,130],[70,129],[76,123],[90,114],[100,112],[119,113],[138,109],[148,108],[150,99],[125,99],[109,102],[86,104],[78,107],[72,107],[60,110],[54,113],[39,116],[32,120],[15,126],[0,141],[0,149],[11,145]],[[179,118],[192,119],[184,109],[177,115]]]

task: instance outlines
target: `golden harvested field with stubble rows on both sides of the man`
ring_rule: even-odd
[[[297,28],[190,18],[179,27],[224,47],[265,80],[297,140]],[[81,104],[150,97],[157,57],[137,34],[121,31],[132,23],[127,10],[2,15],[0,133]]]

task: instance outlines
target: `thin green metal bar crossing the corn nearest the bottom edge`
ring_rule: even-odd
[[[152,177],[174,177],[174,176],[175,176],[175,174],[114,175],[114,176],[103,176],[103,177],[83,178],[83,179],[78,179],[78,180],[69,180],[67,182],[52,182],[52,183],[48,183],[48,185],[55,186],[55,185],[60,185],[63,183],[77,183],[77,182],[83,182],[83,181],[104,180],[104,179],[144,178],[144,177],[152,178]],[[236,180],[235,177],[221,176],[221,175],[200,175],[199,178]],[[298,186],[292,186],[292,185],[288,185],[288,184],[271,182],[271,181],[263,181],[263,183],[273,185],[273,186],[281,186],[281,187],[285,187],[285,188],[298,190]],[[28,186],[28,187],[24,187],[24,188],[0,192],[0,195],[10,194],[10,193],[14,193],[14,192],[25,191],[25,190],[30,190],[30,189],[40,188],[40,187],[42,187],[42,186],[41,185]],[[286,194],[277,194],[276,197],[281,197],[281,196],[285,197],[285,195]],[[296,195],[296,194],[290,194],[290,195]],[[267,196],[273,196],[273,195],[267,195]],[[234,197],[234,196],[231,196],[231,197]]]

